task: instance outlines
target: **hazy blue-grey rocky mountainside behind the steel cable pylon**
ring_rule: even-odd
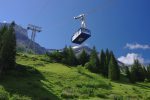
[[[0,28],[3,27],[4,25],[9,26],[10,23],[0,23]],[[32,51],[35,52],[36,54],[46,53],[47,49],[29,39],[27,29],[17,24],[15,25],[14,29],[17,39],[17,51],[20,52]],[[31,45],[29,46],[29,44],[34,44],[34,47]]]

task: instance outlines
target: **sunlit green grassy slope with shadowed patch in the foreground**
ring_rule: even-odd
[[[83,67],[49,63],[38,55],[18,54],[17,64],[0,81],[0,100],[150,100],[150,83],[111,82]]]

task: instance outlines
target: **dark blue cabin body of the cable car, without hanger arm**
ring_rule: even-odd
[[[82,44],[85,40],[91,37],[91,31],[89,29],[80,28],[73,36],[72,42],[76,44]]]

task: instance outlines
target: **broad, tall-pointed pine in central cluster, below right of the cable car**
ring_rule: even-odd
[[[98,59],[97,51],[96,51],[95,47],[93,47],[93,49],[92,49],[92,52],[90,55],[90,60],[89,60],[89,63],[86,64],[86,68],[94,73],[99,72],[99,70],[98,70],[99,69],[99,59]]]

